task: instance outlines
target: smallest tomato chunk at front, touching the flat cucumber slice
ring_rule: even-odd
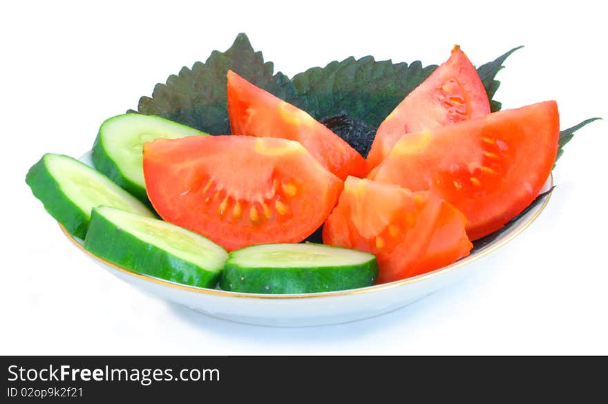
[[[323,242],[373,253],[378,283],[433,271],[467,256],[466,218],[426,191],[348,177]]]

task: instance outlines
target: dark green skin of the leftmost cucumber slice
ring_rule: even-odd
[[[46,155],[48,153],[30,168],[26,175],[26,183],[34,196],[42,202],[44,209],[61,223],[68,233],[84,239],[91,215],[80,209],[61,191],[59,183],[46,168]]]

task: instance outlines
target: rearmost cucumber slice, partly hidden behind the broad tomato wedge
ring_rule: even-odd
[[[128,113],[106,119],[93,144],[93,165],[116,184],[148,202],[142,169],[142,146],[164,137],[177,139],[207,135],[189,126],[155,115]]]

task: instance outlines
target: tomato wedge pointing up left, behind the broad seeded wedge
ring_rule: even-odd
[[[341,137],[305,111],[228,72],[228,115],[233,135],[282,137],[300,142],[325,168],[344,180],[365,176],[367,163]]]

